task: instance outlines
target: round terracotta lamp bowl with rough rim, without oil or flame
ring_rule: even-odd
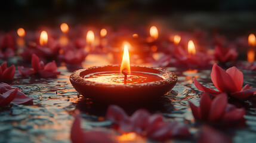
[[[178,80],[176,74],[171,71],[144,66],[131,66],[131,70],[162,74],[165,79],[131,85],[109,85],[84,79],[86,74],[101,71],[119,71],[119,69],[120,65],[112,65],[76,70],[71,74],[70,82],[79,94],[91,98],[93,101],[106,104],[131,104],[149,102],[160,98],[170,91]]]

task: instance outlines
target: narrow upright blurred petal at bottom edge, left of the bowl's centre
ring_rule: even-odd
[[[73,143],[84,143],[84,132],[81,129],[81,121],[80,121],[80,115],[75,114],[75,120],[73,122],[72,128],[71,128],[71,141]]]

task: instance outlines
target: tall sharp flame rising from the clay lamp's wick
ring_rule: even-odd
[[[124,44],[124,54],[123,54],[121,68],[120,68],[120,73],[122,73],[123,70],[124,72],[128,72],[128,74],[131,74],[131,68],[129,66],[129,52],[128,52],[127,43]]]

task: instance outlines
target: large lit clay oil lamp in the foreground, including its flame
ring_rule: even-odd
[[[127,45],[122,64],[74,71],[70,82],[84,97],[104,103],[131,104],[153,101],[177,82],[175,73],[156,67],[129,66]]]

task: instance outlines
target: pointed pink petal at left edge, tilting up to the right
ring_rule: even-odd
[[[10,91],[5,92],[3,95],[0,95],[0,106],[5,106],[10,104],[14,100],[17,94],[17,88],[11,89]]]

